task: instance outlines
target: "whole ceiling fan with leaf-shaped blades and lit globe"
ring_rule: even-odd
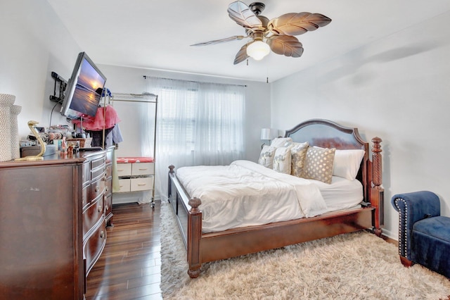
[[[227,10],[229,16],[238,25],[245,28],[245,35],[234,35],[191,46],[207,46],[237,39],[251,39],[236,54],[235,65],[245,61],[248,57],[260,60],[269,54],[270,50],[284,56],[300,57],[303,54],[303,45],[293,36],[316,30],[331,22],[331,19],[325,15],[306,12],[285,13],[278,18],[269,20],[261,15],[264,7],[265,5],[261,2],[254,2],[249,6],[241,1],[231,3]]]

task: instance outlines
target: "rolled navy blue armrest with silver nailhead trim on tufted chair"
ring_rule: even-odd
[[[413,225],[441,214],[439,197],[428,191],[396,194],[392,196],[391,204],[399,212],[399,254],[411,261]]]

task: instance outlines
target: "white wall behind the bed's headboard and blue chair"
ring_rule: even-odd
[[[274,82],[272,127],[326,118],[383,139],[385,233],[398,237],[394,194],[428,189],[450,215],[450,13]]]

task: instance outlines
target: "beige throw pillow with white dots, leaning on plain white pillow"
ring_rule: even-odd
[[[330,184],[333,179],[335,148],[308,147],[302,177]]]

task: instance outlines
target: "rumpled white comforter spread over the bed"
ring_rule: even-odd
[[[327,211],[316,185],[251,161],[179,168],[176,177],[191,197],[202,201],[203,232],[312,217]]]

